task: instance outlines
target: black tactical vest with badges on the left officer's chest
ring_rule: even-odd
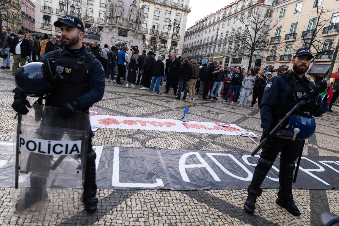
[[[61,107],[81,96],[89,90],[91,78],[91,61],[95,56],[90,53],[77,58],[61,55],[61,49],[52,53],[54,62],[52,72],[63,78],[60,84],[49,94],[46,99],[47,106]]]

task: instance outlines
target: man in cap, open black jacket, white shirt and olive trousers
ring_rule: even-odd
[[[18,32],[18,36],[13,39],[11,47],[9,47],[9,54],[13,56],[12,75],[15,75],[18,64],[21,66],[26,64],[26,59],[31,56],[31,43],[24,38],[25,33],[21,30]]]

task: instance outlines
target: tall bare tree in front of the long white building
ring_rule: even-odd
[[[231,34],[234,39],[233,52],[249,59],[248,70],[251,69],[254,56],[263,58],[265,53],[271,51],[268,38],[271,37],[272,30],[281,25],[280,20],[272,21],[273,12],[259,3],[250,7],[247,13],[238,16],[241,27],[233,26]],[[277,44],[276,51],[280,48],[282,45]]]

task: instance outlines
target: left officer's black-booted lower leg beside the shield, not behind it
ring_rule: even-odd
[[[95,159],[96,153],[92,149],[87,153],[85,184],[82,201],[88,213],[97,211],[98,198],[96,198],[97,185],[95,183]]]

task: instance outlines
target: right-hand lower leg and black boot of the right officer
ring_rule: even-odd
[[[292,194],[294,163],[281,163],[279,171],[279,191],[276,203],[284,207],[288,212],[295,216],[300,216],[300,211],[294,203]]]

